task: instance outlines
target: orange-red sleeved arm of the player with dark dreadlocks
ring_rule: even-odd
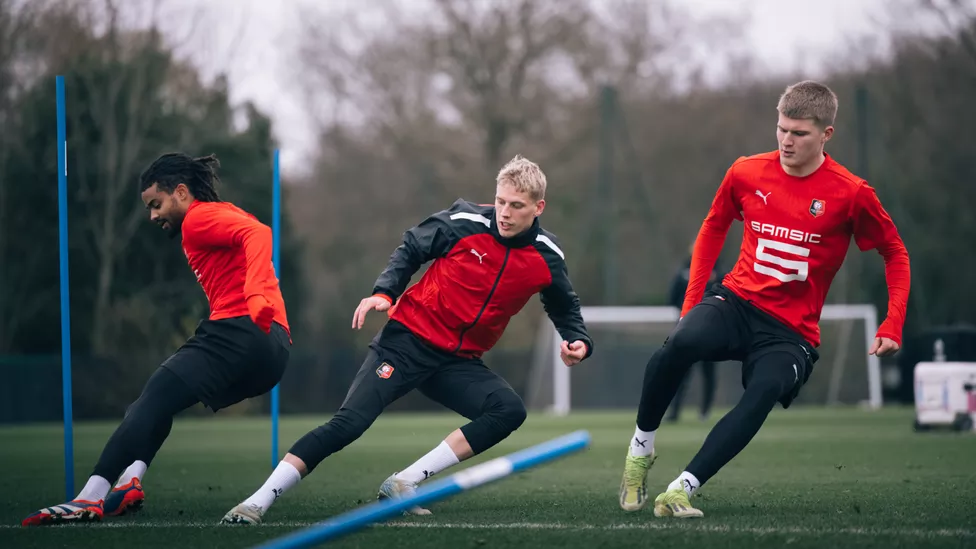
[[[274,247],[271,228],[234,210],[198,209],[184,220],[183,238],[202,247],[238,248],[244,252],[244,299],[254,323],[269,331],[274,307],[264,292],[275,282],[271,280]]]

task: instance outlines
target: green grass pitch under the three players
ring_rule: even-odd
[[[658,432],[652,495],[687,464],[712,422],[693,414]],[[617,505],[631,412],[530,415],[498,447],[450,471],[587,429],[592,445],[332,542],[334,547],[976,547],[976,435],[914,433],[912,411],[775,410],[752,444],[695,498],[697,521]],[[715,418],[717,420],[717,417]],[[285,417],[281,450],[325,418]],[[286,494],[260,527],[221,526],[270,472],[267,418],[178,419],[146,476],[145,509],[93,525],[21,528],[63,499],[58,425],[0,428],[0,547],[248,547],[371,502],[380,483],[462,423],[390,414]],[[75,429],[82,484],[114,423]],[[449,474],[449,473],[445,473]]]

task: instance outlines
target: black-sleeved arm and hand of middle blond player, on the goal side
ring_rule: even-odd
[[[551,235],[549,236],[552,240]],[[583,314],[580,312],[579,296],[573,290],[573,283],[569,279],[569,269],[561,252],[554,249],[546,249],[540,246],[546,263],[549,264],[549,272],[552,274],[552,283],[539,292],[539,299],[542,301],[542,308],[549,316],[556,331],[563,338],[561,345],[563,362],[567,365],[575,364],[589,358],[593,354],[593,339],[586,331],[586,324],[583,322]],[[585,349],[579,348],[579,343],[585,345]]]

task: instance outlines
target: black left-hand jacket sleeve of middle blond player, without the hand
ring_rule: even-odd
[[[458,240],[451,215],[463,206],[463,201],[458,200],[449,209],[437,212],[403,233],[403,244],[390,255],[386,269],[373,284],[373,295],[383,294],[396,303],[406,291],[410,278],[424,263],[445,256]]]

